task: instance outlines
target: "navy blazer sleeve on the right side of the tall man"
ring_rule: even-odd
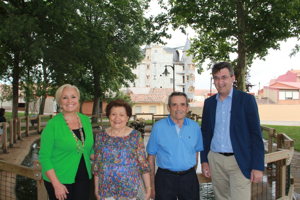
[[[252,145],[252,166],[251,169],[265,170],[265,147],[262,140],[262,131],[260,128],[258,107],[255,97],[251,95],[247,109],[248,127]]]

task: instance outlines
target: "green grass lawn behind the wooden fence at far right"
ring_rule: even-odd
[[[300,127],[296,126],[277,126],[277,125],[263,125],[266,127],[276,129],[276,133],[285,133],[292,140],[294,140],[294,150],[300,151]]]

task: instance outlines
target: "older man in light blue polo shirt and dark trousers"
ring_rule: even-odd
[[[170,115],[153,125],[146,148],[151,168],[152,199],[200,198],[195,167],[198,152],[203,150],[202,134],[197,122],[185,118],[189,108],[187,95],[173,92],[167,105]]]

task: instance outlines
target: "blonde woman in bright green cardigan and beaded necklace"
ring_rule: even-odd
[[[55,93],[60,113],[41,135],[39,159],[50,200],[89,199],[94,139],[90,118],[76,112],[79,90],[62,85]]]

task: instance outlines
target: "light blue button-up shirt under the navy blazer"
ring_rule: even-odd
[[[217,93],[216,122],[210,145],[211,151],[216,153],[233,153],[229,135],[232,93],[233,88],[231,88],[228,97],[223,102],[220,100],[219,93]]]

